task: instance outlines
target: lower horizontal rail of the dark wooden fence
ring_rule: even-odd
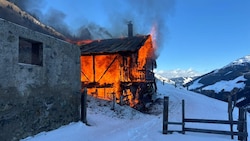
[[[210,133],[210,134],[222,134],[222,135],[238,135],[246,136],[246,133],[243,132],[231,132],[231,131],[222,131],[222,130],[210,130],[210,129],[197,129],[197,128],[184,128],[188,132],[198,132],[198,133]]]

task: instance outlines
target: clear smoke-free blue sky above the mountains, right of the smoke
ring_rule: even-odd
[[[250,54],[249,0],[177,0],[159,69],[201,73]]]

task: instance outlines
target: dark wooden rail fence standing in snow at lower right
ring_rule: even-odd
[[[210,133],[210,134],[223,134],[231,135],[233,139],[234,136],[238,136],[238,140],[247,141],[247,121],[246,121],[246,110],[239,108],[239,118],[238,121],[230,120],[211,120],[211,119],[192,119],[185,117],[185,101],[182,100],[182,121],[181,122],[170,122],[168,120],[168,107],[169,107],[169,97],[164,97],[164,108],[163,108],[163,134],[168,134],[172,132],[179,132],[185,134],[185,132],[199,132],[199,133]],[[228,124],[230,125],[229,131],[223,130],[211,130],[211,129],[200,129],[200,128],[190,128],[186,127],[186,123],[211,123],[211,124]],[[169,130],[168,125],[179,125],[181,130]],[[233,131],[233,125],[237,125],[238,131]]]

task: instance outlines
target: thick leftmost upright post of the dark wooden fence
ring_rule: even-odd
[[[164,97],[164,107],[163,107],[163,134],[168,133],[168,102],[169,97]]]

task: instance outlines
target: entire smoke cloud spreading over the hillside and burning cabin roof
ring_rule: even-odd
[[[103,27],[96,24],[96,21],[85,19],[88,22],[80,23],[78,21],[79,29],[77,32],[73,32],[72,27],[65,22],[66,17],[70,16],[67,15],[68,11],[59,11],[54,7],[50,7],[44,14],[42,9],[46,6],[46,1],[9,1],[14,2],[20,8],[31,13],[45,24],[52,26],[65,36],[74,39],[101,39],[127,36],[126,24],[128,21],[132,21],[134,25],[134,34],[149,34],[154,26],[157,30],[156,41],[158,51],[162,43],[167,40],[167,19],[173,13],[175,5],[175,0],[91,0],[90,3],[84,1],[84,4],[88,3],[88,7],[92,7],[93,4],[100,5],[106,15],[105,18],[108,19],[108,23],[105,25],[111,26]],[[81,1],[74,1],[70,6],[73,7],[74,4],[83,5]],[[83,5],[83,10],[85,9],[86,7]],[[86,15],[90,14],[89,12],[86,10]],[[96,16],[98,16],[98,12],[92,12],[91,14],[94,16],[97,14]],[[86,16],[79,15],[79,17]]]

